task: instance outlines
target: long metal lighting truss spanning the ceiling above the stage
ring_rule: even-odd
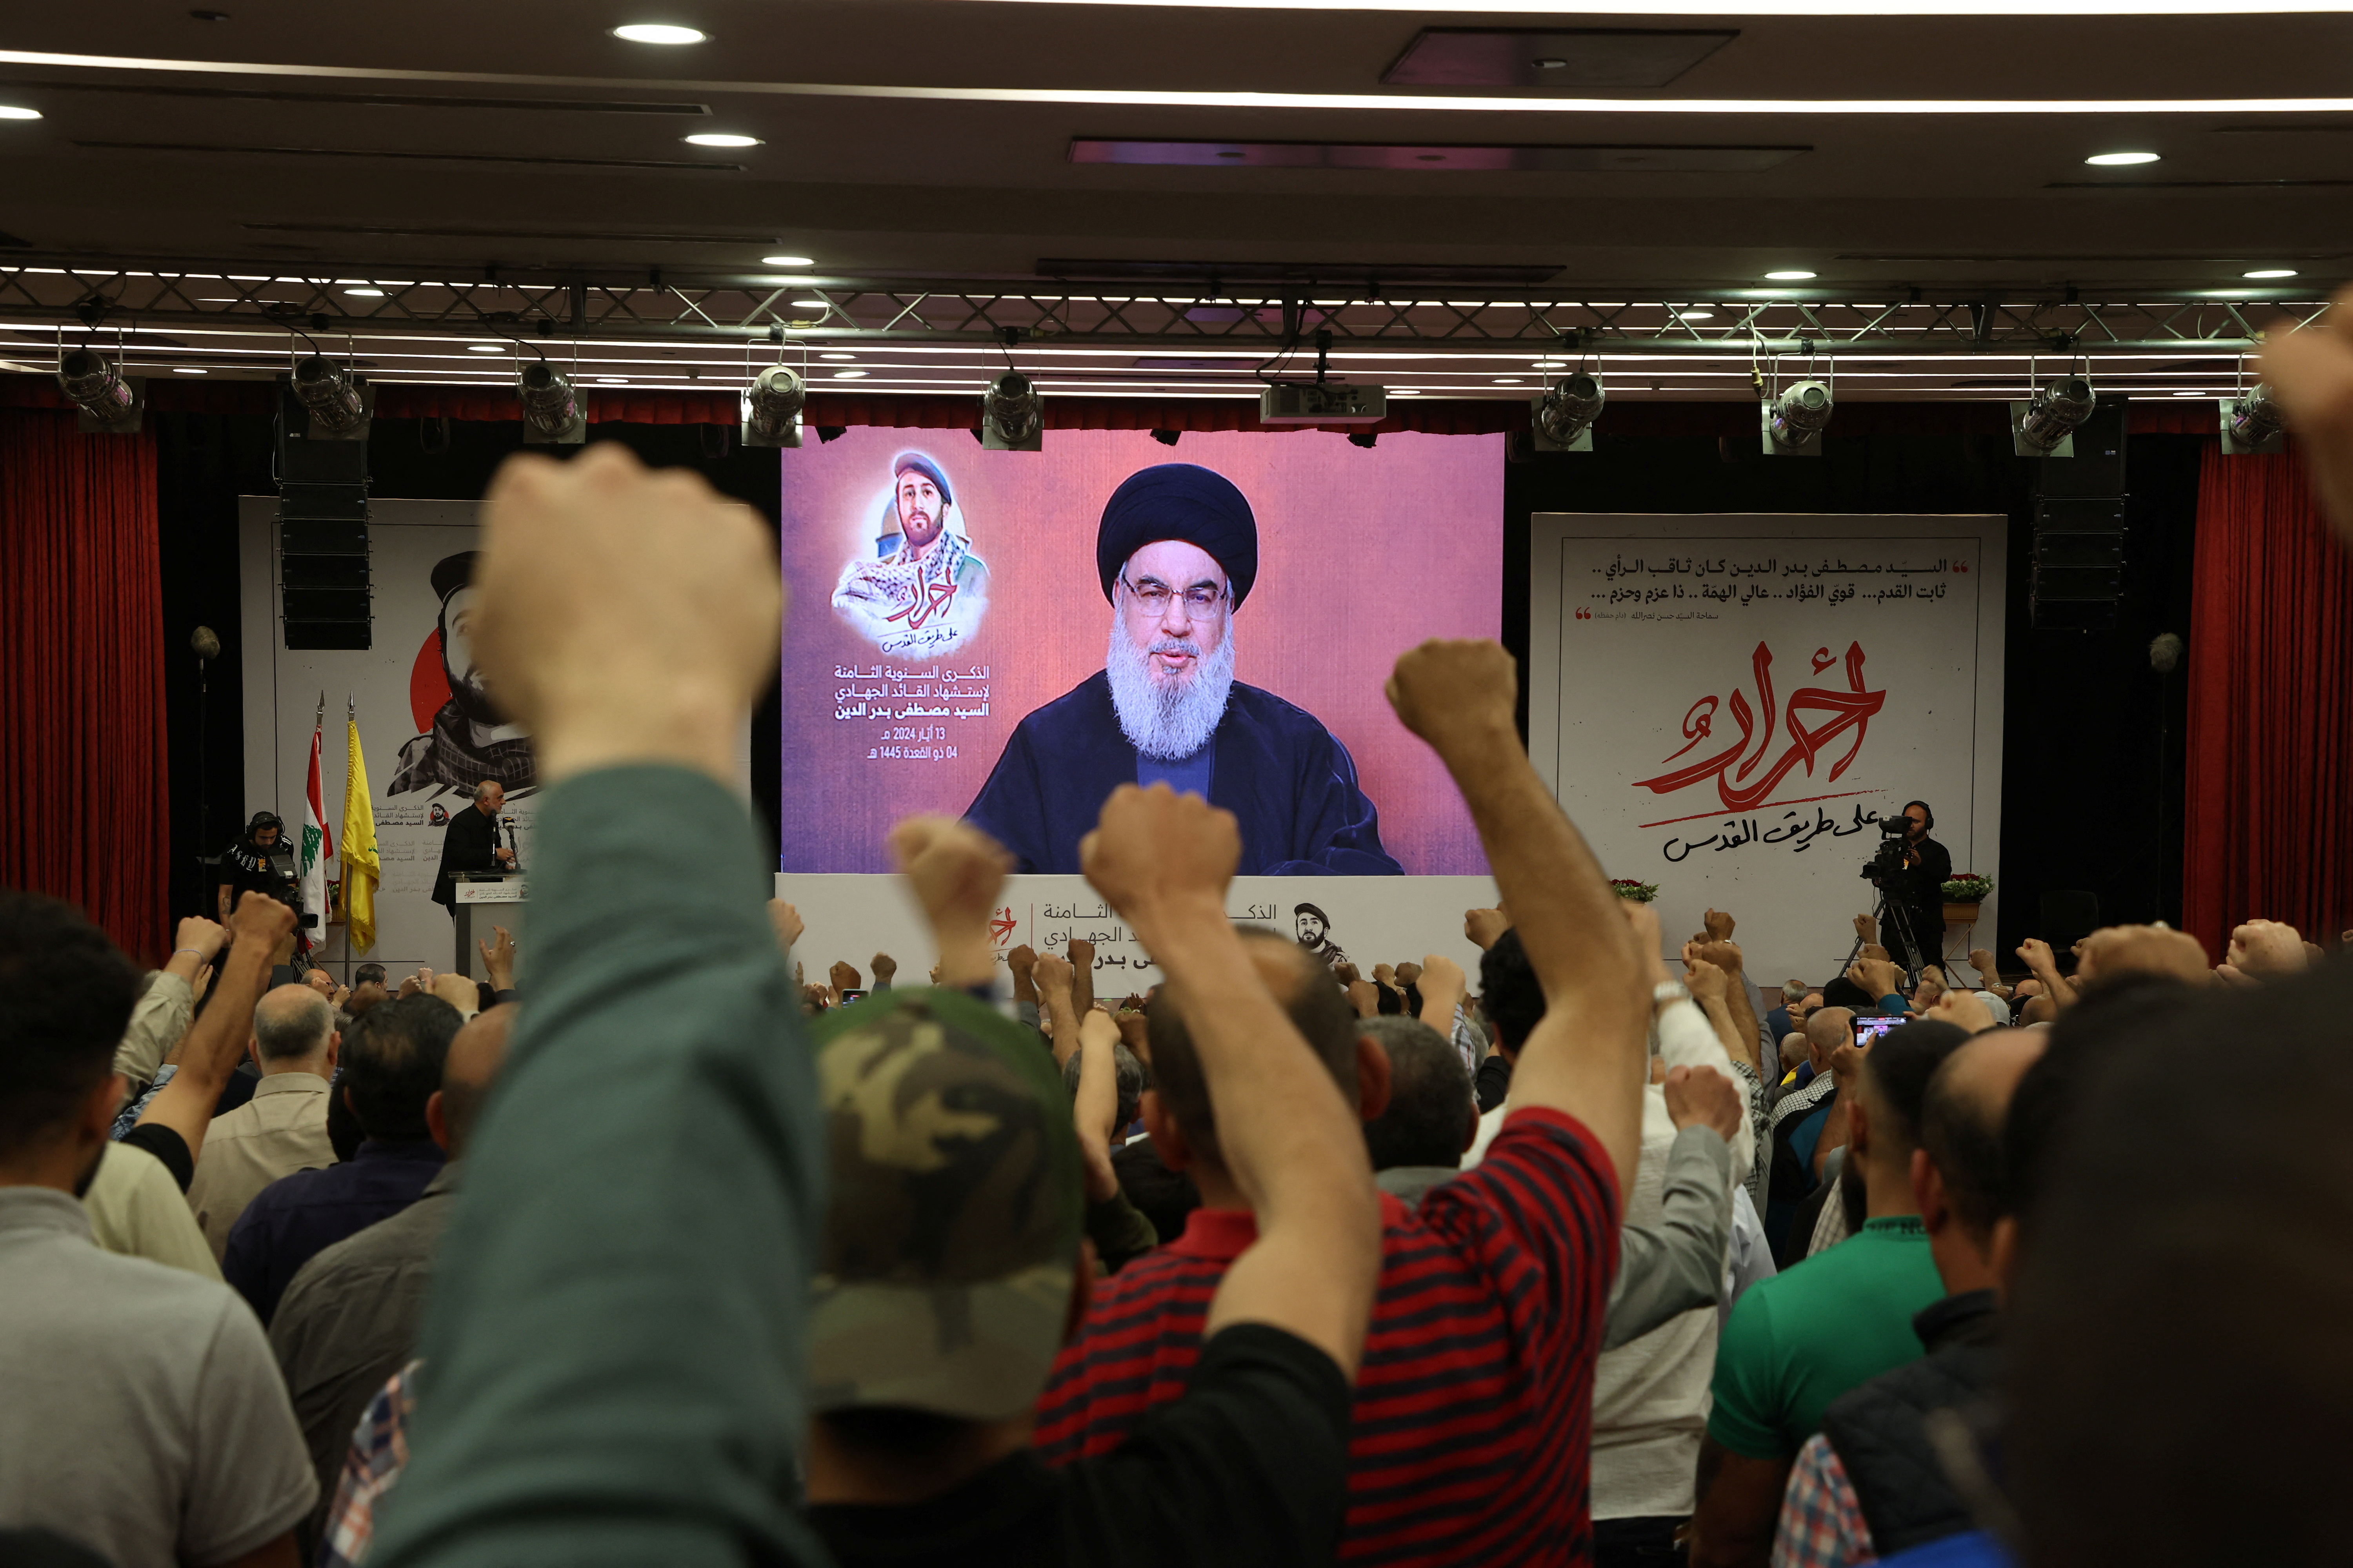
[[[391,270],[391,268],[381,268]],[[1967,357],[2066,353],[2078,360],[2151,353],[2231,355],[2275,317],[2327,306],[2287,292],[2240,296],[2111,289],[2097,299],[1831,289],[1612,287],[1607,303],[1558,287],[1367,282],[1115,282],[776,277],[760,273],[560,275],[400,268],[296,273],[271,263],[9,259],[0,320],[54,324],[64,341],[134,334],[273,331],[515,346],[699,346],[800,341],[824,348],[958,348],[1021,341],[1038,350],[1195,350],[1259,357],[1332,334],[1337,355],[1501,353],[1657,355],[1748,364],[1767,355]],[[376,296],[351,289],[379,289]],[[807,303],[819,301],[819,303]],[[1708,320],[1682,310],[1706,306]],[[1007,336],[1012,334],[1012,339]],[[24,360],[33,343],[21,343]],[[487,367],[485,367],[487,369]],[[816,388],[812,388],[816,390]],[[882,390],[868,388],[868,390]],[[1473,388],[1461,388],[1471,393]],[[1487,395],[1506,395],[1494,388]],[[1525,393],[1515,393],[1525,397]]]

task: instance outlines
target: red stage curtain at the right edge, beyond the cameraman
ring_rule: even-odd
[[[2198,477],[2181,922],[2353,926],[2353,559],[2289,456]]]

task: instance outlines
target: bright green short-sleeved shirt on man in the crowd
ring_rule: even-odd
[[[1835,1199],[1833,1199],[1835,1201]],[[1871,1220],[1826,1253],[1751,1286],[1715,1347],[1708,1436],[1786,1460],[1833,1399],[1920,1359],[1913,1314],[1944,1300],[1920,1215]]]

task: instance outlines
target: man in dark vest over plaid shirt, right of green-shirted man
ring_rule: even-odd
[[[1986,1403],[2000,1380],[1993,1229],[2009,1213],[2002,1119],[2042,1056],[2040,1030],[1988,1030],[1937,1067],[1920,1107],[1913,1197],[1948,1295],[1913,1316],[1927,1354],[1840,1394],[1798,1453],[1774,1563],[1868,1561],[1974,1528],[1927,1432],[1937,1410]]]

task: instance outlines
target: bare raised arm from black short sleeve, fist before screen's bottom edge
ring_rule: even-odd
[[[1226,1168],[1259,1218],[1205,1331],[1271,1324],[1329,1354],[1353,1382],[1381,1272],[1381,1204],[1355,1110],[1226,917],[1240,856],[1233,813],[1167,785],[1120,785],[1080,844],[1087,882],[1160,959],[1162,999],[1184,1011]]]

